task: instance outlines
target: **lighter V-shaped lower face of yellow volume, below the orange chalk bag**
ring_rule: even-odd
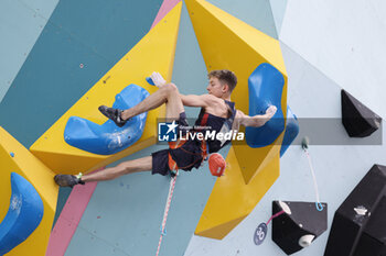
[[[244,182],[233,147],[226,162],[225,175],[217,179],[213,188],[196,226],[196,235],[224,238],[254,210],[280,175],[279,155],[276,155],[248,185]]]

